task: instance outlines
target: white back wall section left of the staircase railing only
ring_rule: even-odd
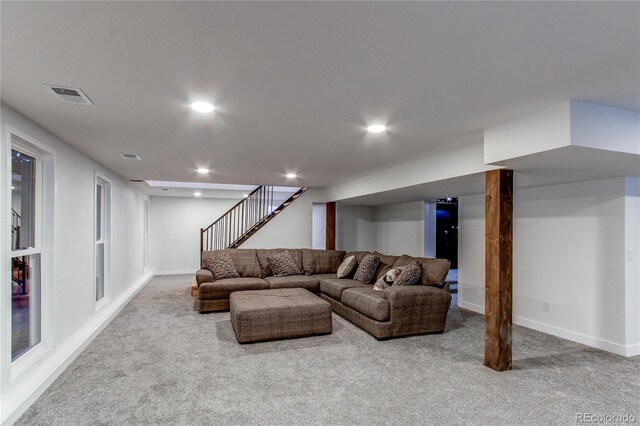
[[[200,228],[209,226],[239,200],[151,197],[149,263],[159,274],[190,273],[200,265]]]

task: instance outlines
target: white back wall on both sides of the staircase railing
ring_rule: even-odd
[[[151,197],[150,263],[156,273],[191,273],[200,264],[200,228],[233,207],[238,200]],[[324,203],[324,191],[309,189],[241,248],[312,246],[314,202]]]

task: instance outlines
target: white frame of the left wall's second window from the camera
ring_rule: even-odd
[[[98,221],[96,220],[97,214],[95,209],[98,207],[98,195],[97,195],[97,187],[98,185],[102,186],[103,194],[102,194],[102,212],[101,212],[101,225],[102,229],[100,232],[101,238],[96,240],[96,235],[98,233]],[[93,185],[93,206],[94,206],[94,216],[93,216],[93,239],[94,239],[94,252],[93,252],[93,276],[97,276],[98,270],[98,245],[103,245],[104,250],[104,295],[100,300],[96,300],[98,297],[98,289],[93,281],[93,301],[94,301],[94,309],[98,311],[102,309],[104,306],[108,305],[111,301],[111,180],[104,176],[99,172],[95,172],[95,179]]]

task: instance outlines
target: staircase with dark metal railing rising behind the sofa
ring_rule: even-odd
[[[284,202],[277,204],[273,186],[257,187],[218,220],[200,229],[200,256],[204,251],[238,248],[307,189],[299,188]]]

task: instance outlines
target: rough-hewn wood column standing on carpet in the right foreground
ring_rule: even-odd
[[[513,171],[486,172],[484,365],[511,370]]]

